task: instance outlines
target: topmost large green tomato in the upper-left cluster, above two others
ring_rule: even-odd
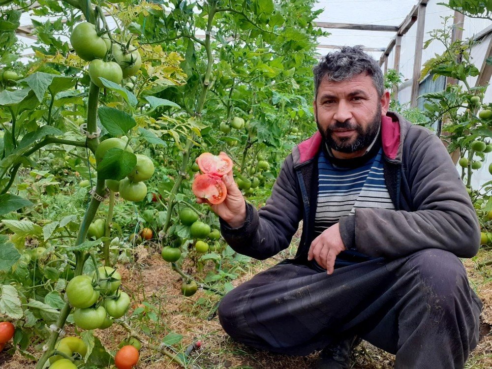
[[[86,62],[103,59],[108,52],[107,41],[97,35],[95,26],[89,22],[82,22],[73,29],[70,43],[77,55]]]

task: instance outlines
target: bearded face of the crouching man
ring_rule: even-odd
[[[379,97],[365,73],[340,82],[323,79],[313,104],[318,129],[339,158],[366,152],[388,106],[389,92]]]

